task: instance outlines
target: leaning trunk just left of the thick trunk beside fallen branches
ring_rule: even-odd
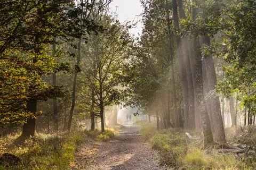
[[[197,8],[193,8],[192,17],[193,20],[196,19],[198,13]],[[206,111],[204,92],[203,92],[203,66],[202,66],[202,53],[201,46],[198,38],[193,39],[194,51],[195,51],[195,74],[196,74],[196,88],[197,88],[197,102],[199,103],[199,112],[201,115],[202,129],[204,136],[204,147],[208,147],[214,143],[213,134],[211,130],[211,124],[209,116]]]

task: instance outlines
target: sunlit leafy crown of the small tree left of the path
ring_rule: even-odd
[[[102,107],[121,104],[129,97],[126,84],[130,78],[126,67],[133,39],[129,27],[119,23],[115,16],[104,14],[95,21],[101,23],[105,31],[90,35],[87,44],[83,45],[83,83],[78,89],[79,96],[87,102],[83,100],[78,106],[99,116]]]

